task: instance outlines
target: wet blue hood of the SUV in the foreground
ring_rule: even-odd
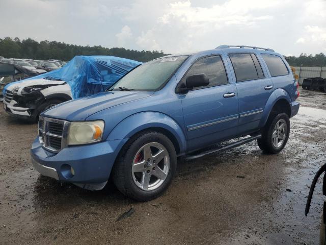
[[[45,111],[42,115],[68,121],[81,121],[101,110],[139,100],[151,96],[153,93],[151,91],[101,92],[59,104]]]

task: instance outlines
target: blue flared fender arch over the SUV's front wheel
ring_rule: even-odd
[[[125,118],[111,131],[107,140],[130,138],[148,128],[168,130],[178,141],[180,154],[186,151],[186,139],[179,124],[170,116],[154,111],[140,112]]]

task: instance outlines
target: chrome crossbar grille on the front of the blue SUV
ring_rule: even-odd
[[[59,130],[56,134],[49,132],[49,122],[55,122],[56,124],[62,125],[62,132],[59,134]],[[43,148],[50,152],[60,152],[63,148],[67,146],[67,134],[69,128],[69,121],[53,119],[48,117],[39,117],[39,140],[42,144]],[[50,141],[50,137],[61,138],[61,147],[60,149],[57,147],[59,146],[57,142]],[[52,143],[51,143],[52,142]]]

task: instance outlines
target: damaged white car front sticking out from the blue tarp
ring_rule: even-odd
[[[71,89],[65,81],[45,77],[8,86],[4,109],[17,117],[36,121],[42,111],[69,100],[72,100]]]

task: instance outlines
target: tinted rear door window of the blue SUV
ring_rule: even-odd
[[[263,78],[261,66],[254,54],[229,54],[237,82]]]

